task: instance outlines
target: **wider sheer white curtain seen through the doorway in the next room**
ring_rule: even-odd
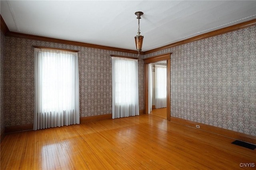
[[[166,107],[167,71],[165,65],[155,65],[156,109]]]

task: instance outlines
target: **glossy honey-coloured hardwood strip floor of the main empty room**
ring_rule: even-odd
[[[241,163],[256,166],[256,150],[233,141],[154,114],[106,119],[6,134],[1,142],[1,170],[234,170],[241,169]]]

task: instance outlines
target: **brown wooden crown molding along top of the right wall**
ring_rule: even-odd
[[[256,25],[256,19],[246,21],[246,22],[242,22],[240,24],[236,24],[236,25],[233,25],[233,26],[228,26],[228,27],[225,27],[225,28],[221,28],[219,30],[215,30],[215,31],[212,31],[212,32],[201,34],[199,36],[188,38],[186,40],[182,40],[182,41],[179,41],[179,42],[164,45],[164,46],[159,47],[159,48],[144,51],[144,55],[154,53],[156,51],[161,51],[161,50],[164,50],[164,49],[176,47],[178,45],[183,45],[183,44],[186,44],[186,43],[195,42],[195,41],[198,41],[198,40],[203,40],[203,39],[206,39],[206,38],[218,36],[218,35],[221,35],[221,34],[225,34],[225,33],[228,33],[228,32],[240,30],[240,29],[247,28],[247,27],[250,27],[250,26],[255,26],[255,25]]]

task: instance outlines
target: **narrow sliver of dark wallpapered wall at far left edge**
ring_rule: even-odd
[[[4,48],[5,48],[5,36],[0,31],[0,132],[4,130]]]

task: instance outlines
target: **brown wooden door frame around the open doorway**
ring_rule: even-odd
[[[170,76],[171,76],[171,54],[166,53],[162,55],[157,55],[154,57],[145,58],[144,60],[144,113],[148,114],[148,64],[155,63],[158,61],[167,61],[167,97],[166,97],[166,118],[168,121],[171,120],[171,85],[170,85]]]

